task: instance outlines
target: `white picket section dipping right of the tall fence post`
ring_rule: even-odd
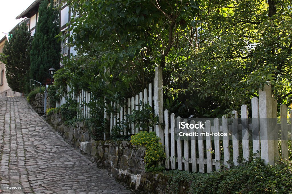
[[[273,100],[274,107],[272,111],[275,119],[271,119],[270,121],[277,122],[277,103],[274,98],[271,99]],[[175,127],[175,123],[178,123],[181,118],[175,118],[174,114],[171,114],[169,118],[169,112],[168,110],[165,110],[164,141],[166,168],[211,173],[214,169],[219,170],[224,167],[230,168],[231,159],[233,159],[232,162],[234,165],[239,164],[238,158],[240,156],[247,161],[250,156],[250,150],[252,150],[254,157],[261,156],[262,159],[265,159],[266,163],[274,164],[274,160],[279,160],[278,140],[276,140],[278,131],[281,131],[281,156],[283,159],[288,159],[288,129],[292,133],[292,127],[291,124],[287,123],[287,106],[284,104],[281,105],[281,124],[276,124],[278,130],[274,131],[275,134],[268,134],[275,138],[268,138],[264,133],[267,129],[260,126],[260,122],[269,122],[269,120],[260,119],[260,110],[258,107],[259,99],[254,97],[252,99],[251,108],[252,123],[250,124],[247,123],[248,120],[246,119],[248,118],[247,106],[242,105],[241,122],[245,122],[244,124],[237,123],[237,111],[233,111],[234,118],[232,120],[234,122],[232,122],[232,125],[228,124],[227,119],[223,116],[222,125],[219,125],[219,119],[215,118],[213,120],[213,126],[211,126],[210,120],[205,122],[206,128],[204,131],[202,131],[202,129],[191,129],[188,131],[197,133],[207,132],[209,134],[212,132],[222,132],[229,134],[228,136],[223,136],[223,140],[218,136],[214,136],[213,140],[211,136],[198,136],[192,140],[181,139],[178,137],[176,140],[175,134],[178,132],[178,127]],[[177,122],[175,122],[175,119],[177,119]],[[194,121],[191,121],[191,123],[195,124]],[[248,127],[243,128],[243,126]],[[240,132],[242,133],[242,136],[239,136]],[[252,138],[253,135],[254,138]],[[232,141],[230,139],[232,139]],[[232,149],[230,149],[230,143]],[[265,147],[267,143],[271,144],[269,150]],[[242,146],[242,151],[239,149],[240,144]],[[262,145],[262,147],[260,145]],[[221,150],[221,146],[223,146],[223,150]],[[270,152],[271,147],[273,147],[274,152]],[[221,157],[222,153],[223,157]],[[269,159],[269,157],[271,158],[270,155],[272,155],[272,160],[268,161],[267,159]]]

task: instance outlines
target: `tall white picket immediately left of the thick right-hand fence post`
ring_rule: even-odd
[[[251,99],[251,117],[253,133],[253,154],[255,154],[254,157],[260,157],[260,115],[257,97],[253,97]]]

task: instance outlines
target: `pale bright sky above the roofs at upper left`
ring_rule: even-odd
[[[35,0],[0,0],[0,39],[24,18],[15,19]]]

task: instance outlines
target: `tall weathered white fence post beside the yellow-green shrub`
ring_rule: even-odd
[[[162,91],[162,67],[155,67],[154,77],[154,105],[155,115],[159,117],[159,123],[163,122],[163,91]],[[163,144],[163,129],[160,124],[154,127],[156,135],[160,138]]]

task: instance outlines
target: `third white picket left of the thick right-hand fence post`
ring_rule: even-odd
[[[237,118],[237,111],[232,111],[232,150],[234,165],[238,165],[237,158],[239,157],[239,134]]]

